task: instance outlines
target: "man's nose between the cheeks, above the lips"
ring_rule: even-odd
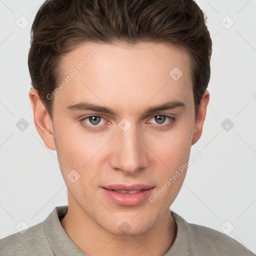
[[[126,174],[134,174],[148,165],[147,146],[143,136],[136,131],[135,125],[123,131],[118,128],[112,141],[110,165],[113,169]]]

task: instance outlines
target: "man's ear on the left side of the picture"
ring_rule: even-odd
[[[29,98],[34,114],[34,125],[44,144],[51,150],[56,150],[53,127],[50,116],[41,102],[40,96],[36,89],[29,91]]]

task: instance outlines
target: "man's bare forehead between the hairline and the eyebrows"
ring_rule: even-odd
[[[192,93],[189,60],[184,48],[163,43],[82,44],[62,58],[55,99],[63,106],[90,99],[123,107],[184,101]]]

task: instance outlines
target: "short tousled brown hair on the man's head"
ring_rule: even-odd
[[[28,68],[33,88],[52,118],[47,98],[61,57],[86,41],[141,41],[183,46],[191,57],[195,114],[210,78],[211,38],[194,0],[46,0],[31,28]]]

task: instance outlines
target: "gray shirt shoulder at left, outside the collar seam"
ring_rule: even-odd
[[[44,232],[44,221],[24,233],[17,232],[0,239],[0,255],[53,255]]]

